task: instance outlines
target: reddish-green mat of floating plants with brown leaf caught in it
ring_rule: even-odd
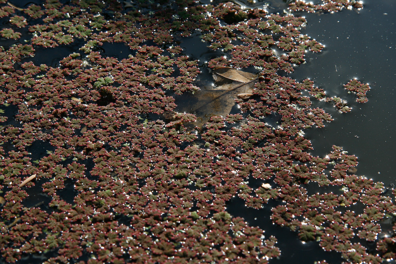
[[[396,191],[304,136],[353,109],[288,77],[324,49],[304,14],[361,8],[0,0],[0,263],[393,260]]]

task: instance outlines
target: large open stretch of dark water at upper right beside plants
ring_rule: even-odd
[[[396,146],[395,62],[396,1],[366,0],[359,12],[342,10],[334,14],[304,14],[307,26],[301,30],[326,46],[290,77],[307,77],[330,96],[345,98],[342,85],[352,78],[369,83],[365,104],[347,98],[352,111],[333,114],[334,121],[323,129],[308,130],[313,154],[324,155],[332,145],[344,147],[359,158],[357,174],[395,184]]]

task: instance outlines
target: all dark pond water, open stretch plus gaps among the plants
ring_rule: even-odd
[[[206,0],[202,2],[209,3],[211,1]],[[239,1],[233,2],[239,3]],[[39,4],[39,1],[36,1],[36,3]],[[264,1],[259,1],[254,6],[261,3],[264,3]],[[281,0],[271,0],[269,4],[268,10],[271,12],[282,12],[287,6],[285,1]],[[341,114],[330,104],[315,103],[329,111],[335,120],[331,123],[326,123],[324,128],[304,129],[305,137],[312,141],[313,150],[310,153],[323,157],[331,151],[332,145],[341,146],[350,155],[356,155],[359,158],[356,174],[365,175],[368,178],[373,178],[375,181],[382,181],[386,186],[390,187],[396,184],[396,180],[394,179],[396,162],[394,162],[392,156],[396,146],[396,135],[394,133],[396,129],[396,106],[394,103],[394,79],[396,78],[396,73],[394,73],[394,63],[396,62],[395,12],[396,3],[392,0],[366,0],[362,10],[342,10],[334,14],[297,12],[296,15],[303,15],[307,19],[307,25],[301,30],[301,33],[315,38],[324,44],[326,48],[321,53],[308,53],[306,57],[307,63],[296,67],[292,73],[283,74],[297,81],[310,78],[315,82],[316,86],[323,88],[329,97],[338,96],[346,99],[350,106],[352,106],[351,112]],[[23,34],[28,33],[23,32]],[[201,73],[195,84],[204,88],[205,86],[212,85],[212,72],[209,70],[207,62],[216,57],[228,56],[229,53],[209,49],[207,43],[202,42],[201,38],[202,34],[197,30],[193,32],[192,36],[176,37],[175,41],[183,48],[183,53],[188,55],[189,58],[199,60],[198,66]],[[80,39],[74,44],[81,47],[84,41]],[[24,61],[32,60],[37,65],[45,63],[57,67],[63,57],[75,52],[73,50],[74,48],[71,46],[56,49],[37,48],[35,57],[33,59],[26,58]],[[96,51],[104,56],[114,56],[118,59],[128,58],[130,53],[129,48],[123,43],[105,43],[96,49]],[[132,54],[136,54],[136,51],[132,52]],[[257,70],[250,67],[248,71],[254,72]],[[367,103],[358,104],[354,102],[355,96],[348,94],[344,90],[343,84],[353,78],[370,84],[371,90],[368,92]],[[184,94],[177,96],[170,91],[167,91],[166,94],[176,99],[177,111],[197,114],[197,117],[202,121],[202,125],[209,119],[208,113],[213,114],[216,110],[214,106],[206,107],[206,103],[204,105],[200,103],[207,97],[208,94],[205,94],[205,90],[208,89],[203,89],[203,91],[196,92],[194,95]],[[197,101],[200,104],[197,104]],[[210,99],[207,104],[210,105],[212,101]],[[222,103],[220,102],[220,104]],[[240,111],[238,106],[233,104],[233,102],[231,106],[227,107],[231,113],[238,113]],[[8,125],[21,126],[13,118],[17,112],[15,106],[2,106],[1,109],[7,112],[8,117],[11,117],[7,121]],[[217,114],[219,113],[224,115],[223,112],[217,112]],[[274,117],[274,115],[272,114],[271,116]],[[148,120],[143,118],[141,122],[147,123],[150,121],[150,116],[144,117],[148,117]],[[158,114],[155,117],[164,119]],[[273,119],[276,119],[276,117]],[[274,121],[275,123],[276,120]],[[85,127],[85,131],[81,132],[83,129],[80,130],[80,134],[84,134],[87,130]],[[198,143],[201,144],[202,142]],[[126,142],[122,146],[129,146],[128,144],[129,142]],[[11,145],[6,145],[6,147],[11,149]],[[31,146],[27,147],[27,151],[33,153],[31,156],[32,160],[42,159],[54,150],[55,147],[50,143],[40,140],[34,141]],[[143,154],[142,151],[142,153],[136,154],[136,157],[141,158]],[[88,158],[82,162],[86,165],[87,174],[90,173],[95,165],[93,159]],[[64,164],[68,162],[65,160],[63,160]],[[217,161],[216,158],[214,160]],[[59,163],[61,164],[61,162]],[[92,175],[86,176],[92,179]],[[118,182],[116,177],[110,178],[110,180],[113,179]],[[143,182],[147,179],[142,177],[139,180],[141,181],[139,188],[145,187]],[[257,180],[251,177],[248,180],[248,184],[252,188],[257,189],[262,184],[261,179]],[[46,178],[37,180],[36,185],[28,189],[30,199],[24,202],[23,205],[25,207],[41,206],[45,210],[52,211],[47,206],[52,201],[51,197],[42,193],[41,184],[46,181],[48,181]],[[73,204],[74,207],[74,199],[79,194],[74,189],[75,179],[66,179],[64,185],[65,187],[62,190],[57,191],[57,195],[62,201],[71,205]],[[320,188],[315,184],[308,184],[306,187],[310,193],[315,193]],[[196,190],[197,188],[191,187],[191,189]],[[339,189],[339,186],[323,187],[320,188],[320,191],[338,194],[337,192],[340,192]],[[95,189],[95,192],[98,190],[100,190],[99,187]],[[150,193],[150,195],[152,194]],[[283,202],[280,199],[276,201],[271,200],[260,210],[247,208],[245,202],[239,198],[232,198],[227,202],[226,210],[232,217],[242,217],[247,221],[248,225],[258,226],[265,230],[266,238],[274,235],[278,239],[277,246],[280,248],[282,254],[281,257],[271,260],[271,263],[312,264],[317,261],[327,260],[329,263],[337,264],[344,261],[340,253],[334,251],[325,252],[321,249],[318,242],[302,242],[296,232],[273,224],[270,219],[271,209],[282,205]],[[43,204],[45,205],[43,206]],[[128,215],[127,217],[130,216]],[[125,218],[127,217],[125,216]],[[121,222],[119,221],[118,223]],[[129,223],[129,218],[125,220],[125,223]],[[144,226],[144,230],[146,230],[146,226]],[[85,252],[84,254],[87,255],[84,258],[88,259],[88,253]]]

